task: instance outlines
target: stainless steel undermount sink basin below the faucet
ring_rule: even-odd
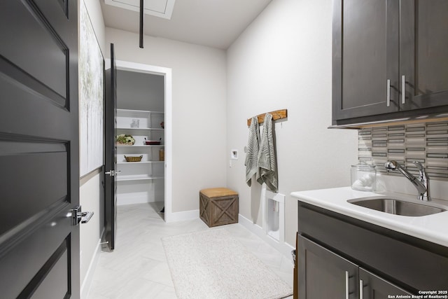
[[[400,216],[426,216],[447,211],[446,207],[439,207],[438,204],[432,204],[430,202],[416,203],[388,197],[358,198],[347,200],[347,202],[360,207]]]

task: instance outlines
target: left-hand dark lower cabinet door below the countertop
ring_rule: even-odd
[[[358,298],[358,266],[299,235],[299,298]]]

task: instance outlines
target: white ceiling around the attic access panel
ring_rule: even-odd
[[[137,11],[100,1],[106,27],[139,32]],[[170,20],[166,16],[145,15],[144,32],[149,36],[227,49],[271,1],[176,0]]]

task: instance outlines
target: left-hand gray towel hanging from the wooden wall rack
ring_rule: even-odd
[[[258,118],[254,116],[249,127],[249,138],[247,141],[247,152],[244,166],[246,166],[246,183],[252,185],[252,176],[258,172],[258,148],[260,146],[260,129],[258,128]]]

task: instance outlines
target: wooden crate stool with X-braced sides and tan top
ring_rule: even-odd
[[[209,188],[199,193],[200,218],[209,228],[238,223],[238,193],[228,188]]]

